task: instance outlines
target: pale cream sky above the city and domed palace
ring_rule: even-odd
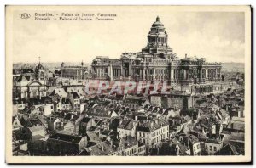
[[[16,14],[14,62],[38,62],[40,56],[42,62],[91,63],[96,56],[118,59],[124,52],[140,52],[157,15],[166,27],[169,46],[179,58],[187,53],[205,57],[208,62],[244,62],[244,13],[118,7],[78,12],[117,17],[114,21],[36,21],[32,20],[34,12],[28,12],[32,15],[28,20],[20,20]]]

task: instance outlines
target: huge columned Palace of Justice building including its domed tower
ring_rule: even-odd
[[[220,81],[221,64],[207,63],[197,57],[179,59],[168,46],[168,35],[157,17],[148,33],[142,52],[122,53],[120,59],[98,56],[93,60],[94,79],[169,81],[172,85],[201,84]]]

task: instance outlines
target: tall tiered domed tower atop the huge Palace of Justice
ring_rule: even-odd
[[[142,51],[143,53],[172,53],[172,48],[168,46],[167,42],[166,28],[160,22],[159,16],[157,16],[148,33],[148,44]]]

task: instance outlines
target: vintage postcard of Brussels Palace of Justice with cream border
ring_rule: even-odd
[[[251,162],[250,6],[6,6],[6,162]]]

